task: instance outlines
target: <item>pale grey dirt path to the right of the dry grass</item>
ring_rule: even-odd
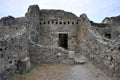
[[[74,65],[62,80],[111,80],[93,64]]]

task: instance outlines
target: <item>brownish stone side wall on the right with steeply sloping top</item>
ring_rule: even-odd
[[[81,18],[83,22],[80,31],[84,33],[83,36],[79,36],[81,53],[87,56],[103,72],[119,80],[120,37],[114,39],[104,37],[90,23],[86,15],[81,15]],[[103,28],[106,27],[103,26]],[[109,29],[106,30],[109,31]]]

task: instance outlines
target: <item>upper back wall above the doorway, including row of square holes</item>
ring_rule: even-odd
[[[80,18],[64,10],[40,10],[40,26],[47,32],[73,32]],[[71,29],[71,30],[70,30]]]

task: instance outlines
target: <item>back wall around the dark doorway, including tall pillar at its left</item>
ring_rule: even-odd
[[[26,18],[29,21],[32,41],[40,45],[58,47],[59,34],[67,34],[68,48],[75,48],[80,19],[73,13],[63,10],[40,10],[37,5],[31,5]]]

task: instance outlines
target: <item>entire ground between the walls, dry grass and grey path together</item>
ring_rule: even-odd
[[[8,80],[112,80],[92,63],[79,65],[34,65],[30,72],[16,74]]]

